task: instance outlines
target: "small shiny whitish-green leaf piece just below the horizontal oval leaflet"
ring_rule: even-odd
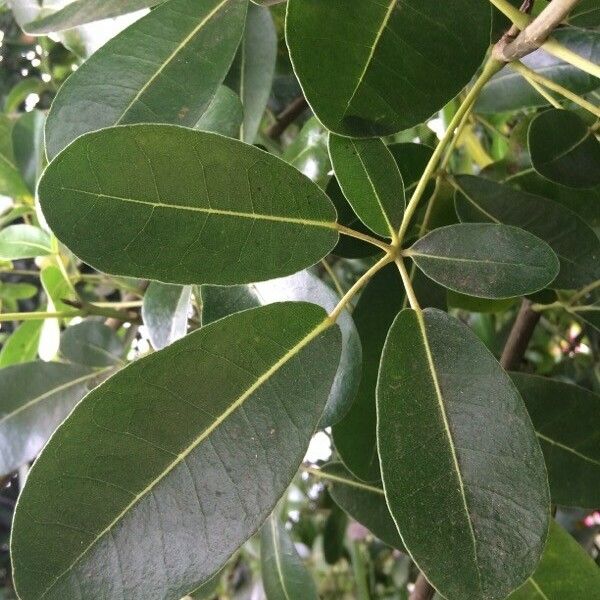
[[[192,301],[189,285],[168,285],[153,281],[144,294],[142,319],[150,343],[161,350],[187,333]]]

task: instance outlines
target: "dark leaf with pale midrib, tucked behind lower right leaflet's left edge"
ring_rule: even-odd
[[[329,463],[321,472],[336,504],[380,540],[404,551],[380,484],[360,481],[342,463]]]

